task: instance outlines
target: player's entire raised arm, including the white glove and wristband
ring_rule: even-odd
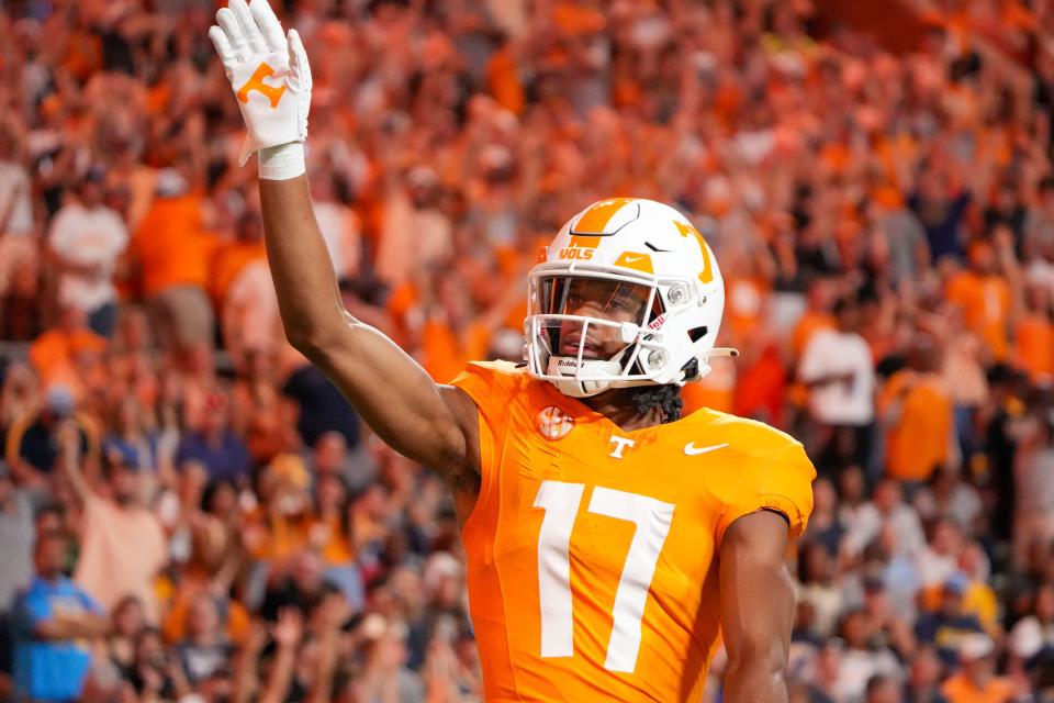
[[[245,154],[259,153],[268,263],[290,343],[397,451],[448,482],[474,480],[474,403],[341,304],[304,176],[311,69],[300,36],[283,35],[267,0],[231,0],[216,19],[210,36],[248,126]]]

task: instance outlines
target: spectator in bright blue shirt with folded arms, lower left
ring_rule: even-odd
[[[14,607],[16,700],[70,701],[80,696],[91,662],[86,639],[108,627],[103,610],[66,576],[66,537],[40,535],[36,576]]]

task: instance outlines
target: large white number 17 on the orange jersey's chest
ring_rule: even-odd
[[[571,613],[571,529],[579,514],[583,483],[543,481],[535,507],[546,511],[538,534],[538,595],[541,602],[541,656],[574,656]],[[594,488],[588,512],[637,526],[615,592],[614,627],[604,667],[632,671],[640,650],[640,623],[659,553],[670,532],[673,505],[647,495]]]

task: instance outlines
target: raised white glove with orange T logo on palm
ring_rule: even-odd
[[[296,30],[287,36],[267,0],[231,0],[209,30],[248,136],[240,164],[267,147],[307,138],[311,67]]]

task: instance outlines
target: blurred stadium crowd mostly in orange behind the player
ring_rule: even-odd
[[[518,359],[590,202],[704,232],[742,354],[686,410],[819,471],[796,702],[1054,700],[1054,3],[933,7],[904,55],[810,0],[280,8],[345,302],[437,380]],[[481,700],[444,487],[284,343],[215,9],[0,0],[0,698]]]

